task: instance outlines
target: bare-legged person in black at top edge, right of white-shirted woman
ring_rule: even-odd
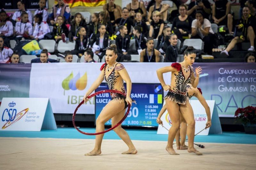
[[[217,25],[227,25],[229,34],[232,33],[233,17],[230,14],[231,4],[228,0],[217,0],[212,5],[212,19]]]

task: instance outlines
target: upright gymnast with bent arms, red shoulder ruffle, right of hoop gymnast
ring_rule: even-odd
[[[196,88],[199,82],[199,74],[202,73],[202,68],[196,68],[196,77],[192,67],[196,59],[196,52],[193,46],[188,46],[184,52],[184,61],[180,63],[172,63],[171,66],[160,68],[156,71],[157,77],[163,86],[164,90],[169,90],[165,96],[166,108],[172,120],[172,127],[168,134],[168,143],[166,151],[170,155],[179,155],[173,149],[173,141],[176,133],[180,129],[180,115],[184,117],[188,124],[188,152],[194,152],[196,155],[202,155],[201,152],[194,148],[195,135],[195,119],[192,107],[188,102],[187,86],[191,82],[192,87]],[[172,72],[171,86],[165,84],[163,73]]]

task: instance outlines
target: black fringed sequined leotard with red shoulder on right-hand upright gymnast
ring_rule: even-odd
[[[178,104],[186,104],[188,96],[188,83],[190,83],[191,74],[194,73],[192,66],[189,66],[189,75],[185,77],[180,63],[172,63],[171,67],[176,68],[176,72],[172,74],[174,76],[171,80],[171,90],[167,93],[164,99],[174,101]]]

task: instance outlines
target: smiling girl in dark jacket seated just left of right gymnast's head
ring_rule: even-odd
[[[178,42],[177,35],[171,34],[169,41],[171,45],[166,49],[164,62],[176,62],[178,58],[178,50],[176,47]]]

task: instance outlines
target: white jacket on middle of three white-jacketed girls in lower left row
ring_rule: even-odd
[[[29,22],[23,23],[21,21],[18,21],[15,24],[15,32],[17,37],[20,37],[20,36],[28,37],[32,35],[33,28],[31,23]]]

